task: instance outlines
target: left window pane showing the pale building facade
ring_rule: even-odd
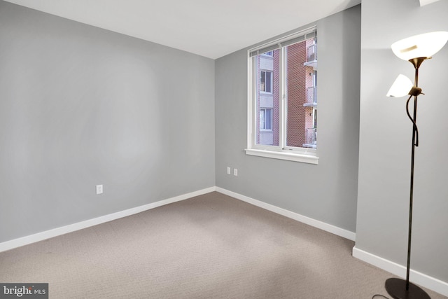
[[[258,84],[255,95],[255,144],[279,146],[280,113],[280,50],[269,55],[254,57],[254,82]]]

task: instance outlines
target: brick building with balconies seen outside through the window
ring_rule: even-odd
[[[255,144],[317,148],[316,37],[255,55],[254,64]]]

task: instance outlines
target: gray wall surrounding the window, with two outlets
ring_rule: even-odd
[[[318,165],[246,155],[247,49],[216,60],[216,186],[356,229],[360,6],[316,22]],[[237,168],[238,176],[228,175]]]

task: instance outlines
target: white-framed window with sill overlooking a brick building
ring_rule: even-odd
[[[317,164],[315,28],[249,50],[249,155]]]

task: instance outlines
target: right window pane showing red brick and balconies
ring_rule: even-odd
[[[316,57],[314,39],[286,47],[286,146],[316,148]]]

